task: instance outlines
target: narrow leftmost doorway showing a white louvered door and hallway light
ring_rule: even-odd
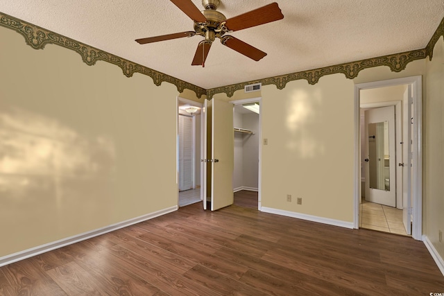
[[[178,207],[200,202],[201,104],[177,98]]]

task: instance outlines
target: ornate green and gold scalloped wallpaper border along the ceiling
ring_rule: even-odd
[[[228,97],[233,96],[234,92],[239,89],[244,89],[245,85],[261,82],[262,85],[276,85],[278,89],[284,89],[287,82],[293,80],[305,79],[310,85],[315,85],[319,79],[325,75],[343,73],[346,78],[356,78],[359,72],[363,69],[387,66],[390,67],[393,72],[403,71],[409,62],[415,60],[422,60],[429,57],[432,60],[433,49],[441,36],[444,36],[444,18],[436,28],[434,35],[424,49],[417,49],[413,51],[406,51],[404,53],[395,53],[391,55],[383,55],[377,58],[369,58],[366,60],[359,60],[356,62],[346,62],[343,64],[336,64],[334,66],[323,67],[318,69],[311,69],[307,71],[300,71],[295,73],[284,74],[281,76],[273,76],[269,78],[263,78],[259,80],[251,80],[248,82],[241,82],[234,85],[226,85],[223,87],[216,87],[212,89],[203,89],[197,85],[193,85],[189,82],[185,82],[173,76],[169,76],[165,73],[155,71],[148,67],[144,67],[141,64],[130,62],[129,60],[119,58],[117,55],[101,51],[87,44],[83,44],[76,40],[72,40],[68,37],[46,30],[39,26],[29,24],[26,21],[22,21],[15,17],[3,14],[0,12],[0,26],[10,28],[17,33],[22,34],[25,37],[26,44],[33,47],[33,49],[44,49],[46,44],[57,44],[67,49],[76,51],[82,57],[83,62],[92,66],[97,61],[103,60],[119,66],[123,75],[127,77],[133,76],[134,73],[142,73],[146,76],[153,78],[155,85],[160,86],[162,82],[169,82],[176,85],[178,92],[183,92],[184,89],[190,89],[196,93],[198,98],[206,95],[207,98],[212,98],[214,94],[225,93]]]

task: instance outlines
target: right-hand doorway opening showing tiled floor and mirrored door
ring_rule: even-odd
[[[403,224],[402,179],[396,178],[402,175],[402,101],[363,102],[402,99],[406,87],[361,90],[359,204],[359,227],[405,236],[411,232]]]

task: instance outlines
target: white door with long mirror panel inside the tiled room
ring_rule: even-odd
[[[395,107],[365,112],[366,200],[396,206]]]

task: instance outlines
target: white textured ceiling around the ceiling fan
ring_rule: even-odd
[[[271,2],[221,0],[218,10],[230,18]],[[0,0],[0,12],[205,89],[423,49],[444,17],[444,0],[277,2],[284,19],[230,33],[265,58],[255,62],[216,40],[205,68],[191,66],[200,36],[134,41],[193,31],[169,0]]]

